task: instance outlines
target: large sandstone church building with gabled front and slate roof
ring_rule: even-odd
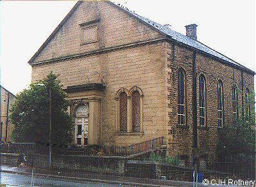
[[[196,24],[185,27],[183,35],[119,4],[78,1],[28,62],[32,82],[60,74],[74,144],[164,136],[169,154],[185,159],[194,146],[207,157],[218,128],[245,115],[233,98],[246,105],[255,72],[198,41]]]

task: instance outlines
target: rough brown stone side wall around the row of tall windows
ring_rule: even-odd
[[[185,158],[192,154],[192,50],[169,43],[167,45],[167,68],[169,72],[169,154],[181,154]],[[185,70],[185,89],[187,107],[187,126],[178,126],[178,70]],[[199,77],[205,75],[206,86],[206,128],[199,125]],[[254,92],[253,75],[243,71],[244,87],[242,89],[241,70],[228,66],[197,53],[197,102],[198,102],[198,151],[202,158],[207,158],[216,150],[218,140],[218,80],[223,81],[225,125],[233,123],[232,86],[235,84],[241,90],[239,94],[239,117],[242,114],[242,90],[246,87]]]

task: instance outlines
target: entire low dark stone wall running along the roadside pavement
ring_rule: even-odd
[[[1,165],[17,165],[19,154],[1,153]],[[155,161],[130,160],[131,158],[117,156],[83,156],[54,155],[52,168],[54,170],[79,170],[98,174],[114,174],[118,176],[141,177],[149,179],[167,179],[174,181],[192,181],[193,169],[160,163]],[[133,158],[134,159],[134,158]],[[28,164],[35,168],[49,168],[47,154],[27,155]],[[204,179],[234,179],[234,174],[203,170]],[[237,176],[243,178],[243,176]]]

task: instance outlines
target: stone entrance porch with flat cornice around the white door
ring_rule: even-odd
[[[68,86],[65,92],[71,101],[69,114],[74,116],[74,144],[78,146],[101,143],[101,100],[103,84]]]

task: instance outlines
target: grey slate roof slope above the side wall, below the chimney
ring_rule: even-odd
[[[113,4],[115,4],[115,3],[113,3]],[[202,52],[210,54],[211,56],[218,57],[219,59],[222,59],[223,61],[226,61],[228,63],[235,64],[235,66],[239,66],[239,67],[241,67],[243,69],[246,69],[247,71],[250,71],[251,73],[255,74],[254,71],[246,68],[245,66],[243,66],[243,65],[241,65],[237,62],[235,62],[234,60],[230,59],[229,57],[224,56],[223,54],[219,53],[218,51],[216,51],[214,49],[211,49],[210,47],[208,47],[207,45],[204,45],[200,41],[193,40],[192,38],[189,38],[189,36],[185,36],[181,33],[173,31],[169,27],[162,26],[161,24],[158,24],[157,22],[153,22],[153,21],[151,21],[151,20],[149,20],[145,17],[142,17],[141,15],[138,15],[134,11],[128,10],[128,8],[126,8],[126,7],[124,7],[120,4],[115,4],[115,5],[119,6],[119,8],[121,8],[124,11],[132,14],[133,16],[137,17],[137,19],[142,20],[142,22],[145,22],[145,23],[149,24],[151,27],[154,27],[155,29],[157,29],[161,33],[164,33],[167,36],[170,36],[173,40],[179,41],[180,43],[188,45],[188,46],[190,46],[194,49],[201,50]]]

